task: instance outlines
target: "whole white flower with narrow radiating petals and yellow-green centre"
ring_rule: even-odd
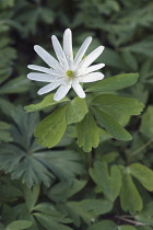
[[[55,101],[63,99],[71,88],[73,88],[78,96],[85,97],[85,93],[79,82],[94,82],[104,78],[103,73],[95,72],[96,70],[102,69],[105,66],[104,64],[90,66],[102,54],[104,47],[97,47],[83,59],[83,56],[92,42],[92,37],[87,37],[80,47],[76,56],[73,58],[72,33],[70,28],[64,31],[63,48],[55,35],[51,36],[51,41],[58,60],[44,48],[35,45],[35,51],[49,68],[30,65],[30,69],[40,71],[40,73],[31,72],[27,74],[27,78],[35,81],[49,82],[38,91],[39,95],[48,93],[59,87],[54,96]]]

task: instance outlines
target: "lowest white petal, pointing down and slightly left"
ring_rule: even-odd
[[[54,100],[55,101],[62,100],[67,95],[67,93],[69,92],[70,89],[71,89],[71,83],[70,82],[60,85],[60,88],[57,90],[57,92],[54,96]]]

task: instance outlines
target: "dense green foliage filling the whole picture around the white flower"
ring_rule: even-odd
[[[0,230],[153,230],[152,24],[150,0],[0,0]],[[67,27],[105,79],[55,102],[27,65]]]

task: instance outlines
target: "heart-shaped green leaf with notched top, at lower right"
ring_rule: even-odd
[[[114,202],[119,196],[121,173],[117,165],[111,166],[109,170],[105,161],[95,161],[94,169],[90,169],[90,175],[96,183],[98,191],[102,191],[110,202]]]

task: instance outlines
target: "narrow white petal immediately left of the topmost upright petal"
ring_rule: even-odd
[[[68,60],[67,60],[66,55],[64,55],[64,53],[63,53],[63,50],[61,48],[60,43],[58,42],[58,38],[55,35],[52,35],[51,36],[51,41],[52,41],[52,46],[54,46],[55,53],[57,55],[57,58],[58,58],[61,67],[63,69],[68,70],[69,69]]]

